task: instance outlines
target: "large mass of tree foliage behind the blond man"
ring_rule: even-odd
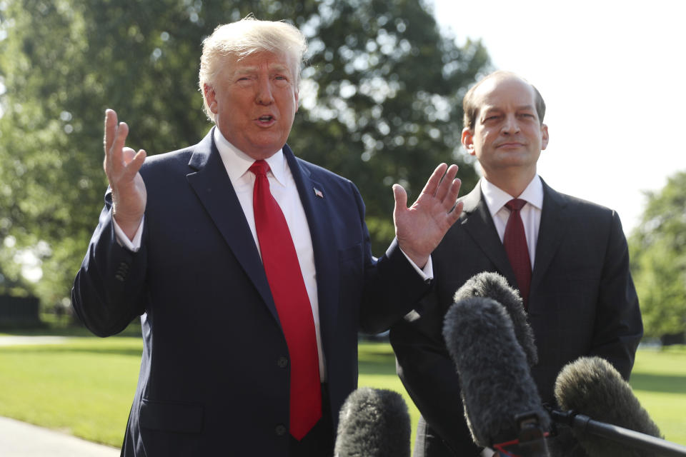
[[[289,144],[352,179],[379,253],[393,236],[394,182],[416,197],[458,153],[461,99],[487,70],[420,0],[5,0],[0,2],[0,291],[23,283],[54,304],[69,287],[102,206],[102,119],[148,154],[195,144],[211,124],[197,73],[202,40],[248,14],[292,21],[310,48]],[[21,258],[41,261],[41,281]],[[26,266],[26,265],[24,265]]]

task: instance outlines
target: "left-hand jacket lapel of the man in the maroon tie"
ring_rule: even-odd
[[[516,284],[515,272],[509,265],[507,253],[498,237],[488,205],[482,198],[481,186],[477,184],[462,201],[464,216],[460,218],[459,223],[507,280]]]

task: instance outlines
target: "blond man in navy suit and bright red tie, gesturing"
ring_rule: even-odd
[[[397,238],[377,261],[354,184],[286,144],[305,49],[284,22],[219,26],[199,77],[215,126],[179,151],[146,159],[106,111],[109,189],[72,301],[99,336],[141,316],[122,456],[332,455],[358,330],[388,328],[429,288],[457,166],[410,209],[393,187]]]

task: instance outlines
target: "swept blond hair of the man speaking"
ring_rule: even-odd
[[[205,99],[204,85],[214,86],[227,57],[242,59],[259,51],[289,56],[296,67],[292,69],[296,87],[299,85],[302,56],[307,51],[307,41],[295,26],[284,21],[259,21],[253,16],[218,26],[202,42],[200,57],[199,86],[209,119],[214,121],[214,113]]]

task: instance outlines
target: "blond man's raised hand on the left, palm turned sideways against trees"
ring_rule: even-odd
[[[128,134],[129,126],[124,122],[119,124],[116,112],[107,109],[105,111],[103,168],[112,189],[114,203],[112,211],[116,224],[129,239],[133,239],[143,219],[147,201],[145,183],[139,173],[146,154],[143,149],[136,153],[133,149],[124,146]]]

